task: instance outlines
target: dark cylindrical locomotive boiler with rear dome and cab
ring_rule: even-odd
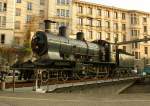
[[[38,57],[49,59],[80,60],[93,62],[111,62],[111,46],[103,40],[87,42],[82,38],[83,32],[77,33],[77,39],[54,36],[38,31],[32,39],[33,53]]]

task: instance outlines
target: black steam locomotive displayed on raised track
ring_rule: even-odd
[[[104,40],[88,42],[84,40],[83,32],[78,32],[76,39],[70,39],[66,36],[66,28],[63,26],[60,27],[58,36],[38,31],[31,41],[32,51],[36,56],[33,63],[39,69],[46,70],[49,77],[59,76],[65,80],[87,77],[112,78],[119,77],[120,73],[129,75],[126,68],[118,71],[121,51],[112,46]]]

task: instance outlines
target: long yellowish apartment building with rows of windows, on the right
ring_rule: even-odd
[[[71,25],[73,38],[76,32],[83,31],[88,41],[124,42],[149,37],[150,13],[74,0]],[[138,66],[150,62],[149,41],[119,48],[134,54]]]

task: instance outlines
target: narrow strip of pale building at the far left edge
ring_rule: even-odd
[[[14,10],[12,8],[14,5],[12,0],[9,3],[7,0],[0,0],[0,46],[10,45],[13,41]]]

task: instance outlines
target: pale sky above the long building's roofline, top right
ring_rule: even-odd
[[[150,0],[82,0],[130,10],[150,12]]]

